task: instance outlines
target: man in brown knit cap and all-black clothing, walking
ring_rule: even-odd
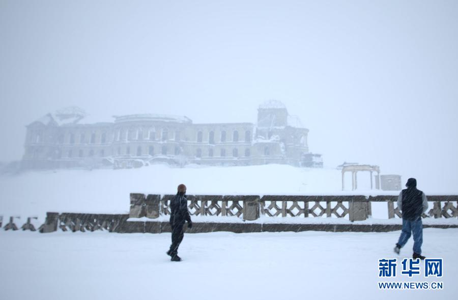
[[[167,251],[171,261],[181,261],[178,256],[178,247],[183,241],[183,225],[188,221],[188,228],[192,227],[191,217],[188,212],[188,200],[186,199],[186,186],[178,186],[177,195],[170,201],[170,226],[172,229],[172,244]]]

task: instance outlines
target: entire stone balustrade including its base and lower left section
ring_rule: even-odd
[[[46,221],[38,231],[53,232],[61,229],[120,233],[170,232],[167,216],[170,215],[169,204],[173,197],[174,195],[130,194],[130,213],[125,215],[47,213]],[[428,201],[433,202],[433,206],[422,217],[449,220],[458,218],[457,200],[456,195],[428,196]],[[192,216],[197,217],[194,218],[195,225],[191,232],[389,231],[400,229],[400,225],[393,222],[375,224],[377,222],[364,220],[371,216],[371,205],[380,202],[387,203],[388,219],[402,218],[396,201],[397,196],[188,195],[188,209]],[[323,218],[324,216],[327,218]],[[219,218],[199,219],[200,217]],[[342,220],[344,218],[347,220]],[[36,219],[28,217],[20,228],[35,231],[32,221]],[[18,230],[15,224],[18,220],[20,217],[11,216],[3,228]],[[2,223],[3,216],[0,216],[0,227]],[[425,224],[425,227],[428,226],[458,227],[458,222]]]

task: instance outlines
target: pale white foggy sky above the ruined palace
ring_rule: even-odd
[[[457,15],[456,1],[2,0],[0,157],[70,105],[254,123],[276,99],[325,166],[456,185]]]

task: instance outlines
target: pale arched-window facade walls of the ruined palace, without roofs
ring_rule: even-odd
[[[22,164],[25,168],[129,167],[132,161],[301,166],[303,155],[308,154],[308,129],[287,126],[286,109],[260,109],[259,119],[272,118],[275,112],[273,127],[134,116],[89,125],[35,122],[27,126]]]

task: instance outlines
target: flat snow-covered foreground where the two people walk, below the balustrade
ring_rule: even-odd
[[[185,234],[170,262],[170,234],[0,231],[2,299],[454,299],[458,229],[424,229],[423,254],[443,277],[401,275],[386,233]],[[380,279],[379,259],[398,258]],[[423,270],[423,268],[421,268]],[[443,290],[379,290],[379,281],[442,281]]]

